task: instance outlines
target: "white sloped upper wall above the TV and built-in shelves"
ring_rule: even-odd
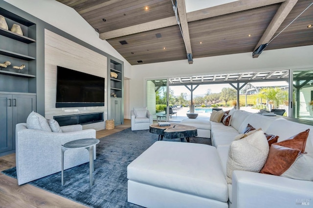
[[[124,76],[131,77],[131,64],[122,57],[74,9],[56,0],[4,0],[64,32],[124,61]]]

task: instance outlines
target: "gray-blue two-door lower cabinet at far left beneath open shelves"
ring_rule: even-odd
[[[36,95],[0,93],[0,155],[15,150],[15,125],[36,111]]]

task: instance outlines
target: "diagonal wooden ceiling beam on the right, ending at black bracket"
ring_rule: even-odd
[[[270,41],[270,39],[274,36],[277,29],[286,19],[286,17],[288,16],[288,14],[290,13],[291,9],[293,8],[293,6],[296,4],[297,1],[298,0],[286,0],[280,5],[275,16],[270,21],[268,28],[264,32],[263,36],[259,40],[258,44],[255,46],[253,51],[255,51],[260,45],[267,44]],[[260,53],[252,55],[252,57],[254,58],[257,58],[259,56],[260,56]]]

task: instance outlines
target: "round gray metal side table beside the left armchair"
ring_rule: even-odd
[[[67,149],[81,149],[85,148],[89,151],[89,181],[90,181],[90,187],[92,186],[93,182],[93,145],[96,145],[99,143],[99,139],[77,139],[70,142],[65,143],[61,146],[62,151],[62,172],[61,172],[61,178],[62,178],[62,186],[64,185],[63,180],[63,172],[64,172],[64,152]]]

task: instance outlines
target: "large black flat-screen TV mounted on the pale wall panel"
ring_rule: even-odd
[[[104,78],[57,66],[56,108],[104,106]]]

